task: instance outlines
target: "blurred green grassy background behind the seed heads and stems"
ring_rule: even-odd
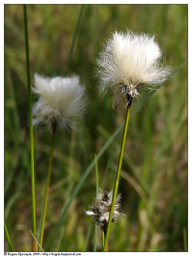
[[[27,5],[30,72],[63,76],[81,5]],[[176,70],[187,59],[186,4],[85,5],[69,74],[86,84],[89,105],[80,132],[57,131],[44,250],[66,200],[125,111],[112,111],[114,94],[99,94],[96,58],[112,32],[156,34],[167,64]],[[148,95],[142,92],[132,110]],[[5,5],[5,220],[16,251],[30,251],[32,229],[30,148],[22,5]],[[35,102],[36,98],[32,98]],[[114,186],[122,132],[98,161],[99,184]],[[48,169],[51,134],[34,129],[37,229]],[[119,191],[120,221],[112,225],[110,251],[184,251],[187,231],[187,63],[130,119]],[[68,211],[54,250],[92,251],[94,225],[85,210],[95,197],[90,172]],[[90,232],[88,232],[90,231]],[[90,233],[90,237],[88,236]],[[60,242],[61,241],[61,242]],[[98,229],[97,250],[101,251]],[[5,239],[5,251],[8,251]]]

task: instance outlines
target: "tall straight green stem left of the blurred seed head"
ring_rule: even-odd
[[[26,45],[26,64],[27,64],[27,83],[28,83],[28,106],[29,106],[29,133],[30,133],[30,158],[31,158],[31,190],[32,190],[32,218],[33,218],[33,234],[34,234],[34,236],[36,236],[34,149],[33,149],[33,126],[32,126],[32,101],[31,101],[29,42],[28,42],[28,26],[27,26],[27,9],[26,9],[26,4],[23,5],[23,10],[24,10],[25,45]]]

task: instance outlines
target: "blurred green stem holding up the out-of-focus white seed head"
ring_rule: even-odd
[[[42,225],[41,225],[41,228],[40,228],[40,245],[41,246],[42,246],[42,243],[43,243],[45,218],[46,218],[46,212],[47,212],[47,202],[48,202],[48,194],[49,194],[49,186],[50,186],[55,130],[56,130],[56,126],[54,126],[53,131],[52,131],[52,139],[51,139],[51,147],[50,147],[50,155],[49,155],[49,166],[48,166],[45,196],[44,196],[44,203],[43,203],[44,207],[43,207],[43,213],[42,213]]]

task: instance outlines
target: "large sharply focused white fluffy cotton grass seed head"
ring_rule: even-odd
[[[100,91],[121,88],[121,96],[137,97],[138,91],[164,82],[171,73],[162,61],[162,51],[154,36],[131,31],[115,32],[98,59]]]

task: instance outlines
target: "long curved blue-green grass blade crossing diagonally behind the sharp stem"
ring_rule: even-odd
[[[179,68],[177,68],[173,73],[175,74],[176,72],[178,72],[180,70],[180,68],[182,68],[182,66],[186,63],[186,61],[184,63],[182,63],[180,65]],[[130,113],[130,118],[134,115],[135,112],[137,112],[141,106],[149,99],[153,96],[153,94],[157,91],[157,89],[160,88],[160,85],[156,88],[156,90],[153,90],[152,92],[150,92],[148,94],[148,96],[146,96],[146,98],[144,98],[144,100],[140,103],[140,105],[133,110],[132,113]],[[102,149],[99,151],[99,153],[97,154],[97,160],[100,159],[100,157],[102,156],[102,154],[105,152],[105,150],[108,148],[108,146],[113,142],[114,138],[118,135],[118,133],[122,130],[122,128],[124,127],[124,122],[122,122],[122,124],[120,124],[120,126],[116,129],[116,131],[111,135],[111,137],[108,139],[108,141],[104,144],[104,146],[102,147]],[[55,240],[58,236],[58,233],[60,231],[60,228],[62,227],[62,223],[66,217],[66,214],[68,212],[68,209],[70,208],[70,205],[72,203],[72,201],[74,200],[74,198],[76,197],[76,195],[78,194],[82,184],[84,183],[84,181],[86,180],[88,174],[90,173],[90,171],[92,170],[92,168],[95,165],[95,160],[92,160],[92,162],[90,163],[90,165],[88,166],[88,168],[86,169],[86,171],[84,172],[84,175],[82,176],[80,182],[77,184],[68,204],[66,205],[66,209],[63,211],[63,213],[60,216],[60,219],[58,220],[58,224],[55,228],[54,234],[52,236],[52,241],[50,243],[50,247],[49,247],[49,251],[52,250]]]

